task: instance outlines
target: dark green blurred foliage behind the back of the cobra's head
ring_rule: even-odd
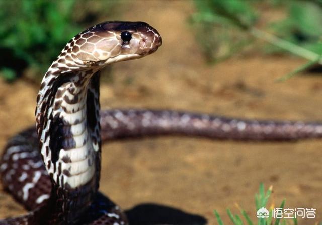
[[[0,20],[3,21],[0,27],[0,74],[12,81],[26,68],[31,68],[33,74],[41,76],[71,37],[96,22],[98,13],[95,11],[109,12],[115,3],[0,1]]]

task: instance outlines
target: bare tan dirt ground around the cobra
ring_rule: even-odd
[[[322,77],[303,74],[284,83],[274,79],[304,61],[245,51],[210,66],[196,44],[187,16],[189,1],[135,1],[122,20],[143,20],[157,28],[163,46],[153,55],[113,66],[113,82],[101,86],[102,108],[179,109],[233,117],[322,120]],[[106,18],[102,17],[102,21]],[[104,74],[103,74],[104,75]],[[0,82],[0,147],[34,123],[37,85]],[[322,220],[322,142],[235,142],[158,137],[115,141],[103,146],[101,191],[124,209],[153,203],[216,224],[216,209],[235,204],[255,218],[260,182],[273,185],[277,207],[316,208]],[[0,217],[23,213],[0,191]],[[192,222],[193,224],[200,224]],[[186,224],[192,224],[187,222]]]

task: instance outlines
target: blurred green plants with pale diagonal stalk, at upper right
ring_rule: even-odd
[[[300,0],[195,0],[197,12],[191,17],[209,62],[225,59],[262,39],[270,43],[266,52],[288,51],[309,60],[293,76],[314,63],[322,63],[322,1]],[[261,20],[267,8],[285,17],[266,23]],[[283,12],[281,11],[283,10]]]

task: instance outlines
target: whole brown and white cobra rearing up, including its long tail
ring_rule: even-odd
[[[28,213],[4,224],[128,224],[100,193],[101,144],[118,138],[185,135],[234,140],[298,140],[322,136],[319,122],[226,118],[174,110],[101,111],[100,70],[142,58],[162,44],[145,22],[108,21],[74,36],[45,73],[36,125],[10,138],[3,187]]]

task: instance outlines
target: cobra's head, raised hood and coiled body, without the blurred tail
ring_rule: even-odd
[[[67,43],[40,85],[36,133],[12,138],[0,164],[4,186],[33,211],[0,224],[127,224],[119,207],[98,193],[99,71],[160,45],[147,23],[121,21],[97,24]]]

